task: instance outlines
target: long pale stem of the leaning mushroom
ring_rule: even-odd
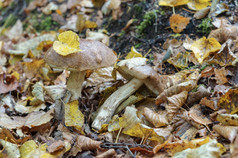
[[[141,80],[133,78],[130,82],[110,95],[100,107],[99,112],[92,123],[92,127],[96,130],[100,130],[103,124],[107,124],[111,120],[111,117],[121,102],[137,91],[142,85],[143,82]]]

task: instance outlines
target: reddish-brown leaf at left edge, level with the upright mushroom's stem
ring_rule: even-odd
[[[16,90],[18,82],[12,75],[0,74],[0,94]]]

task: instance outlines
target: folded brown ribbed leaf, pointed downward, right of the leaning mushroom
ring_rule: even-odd
[[[167,111],[167,117],[169,121],[173,119],[173,116],[176,114],[179,108],[183,106],[183,104],[187,100],[187,97],[187,91],[183,91],[179,94],[167,97],[168,103],[165,105],[165,109]]]

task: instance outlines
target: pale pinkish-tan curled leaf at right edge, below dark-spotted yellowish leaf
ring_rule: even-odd
[[[218,134],[230,140],[231,143],[233,143],[235,137],[237,136],[237,127],[235,126],[214,125],[212,128]]]

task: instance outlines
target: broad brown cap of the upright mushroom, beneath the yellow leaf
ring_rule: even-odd
[[[117,57],[113,50],[105,44],[87,39],[80,39],[80,49],[77,53],[62,56],[51,47],[44,56],[45,61],[54,68],[70,71],[84,71],[113,65]]]

